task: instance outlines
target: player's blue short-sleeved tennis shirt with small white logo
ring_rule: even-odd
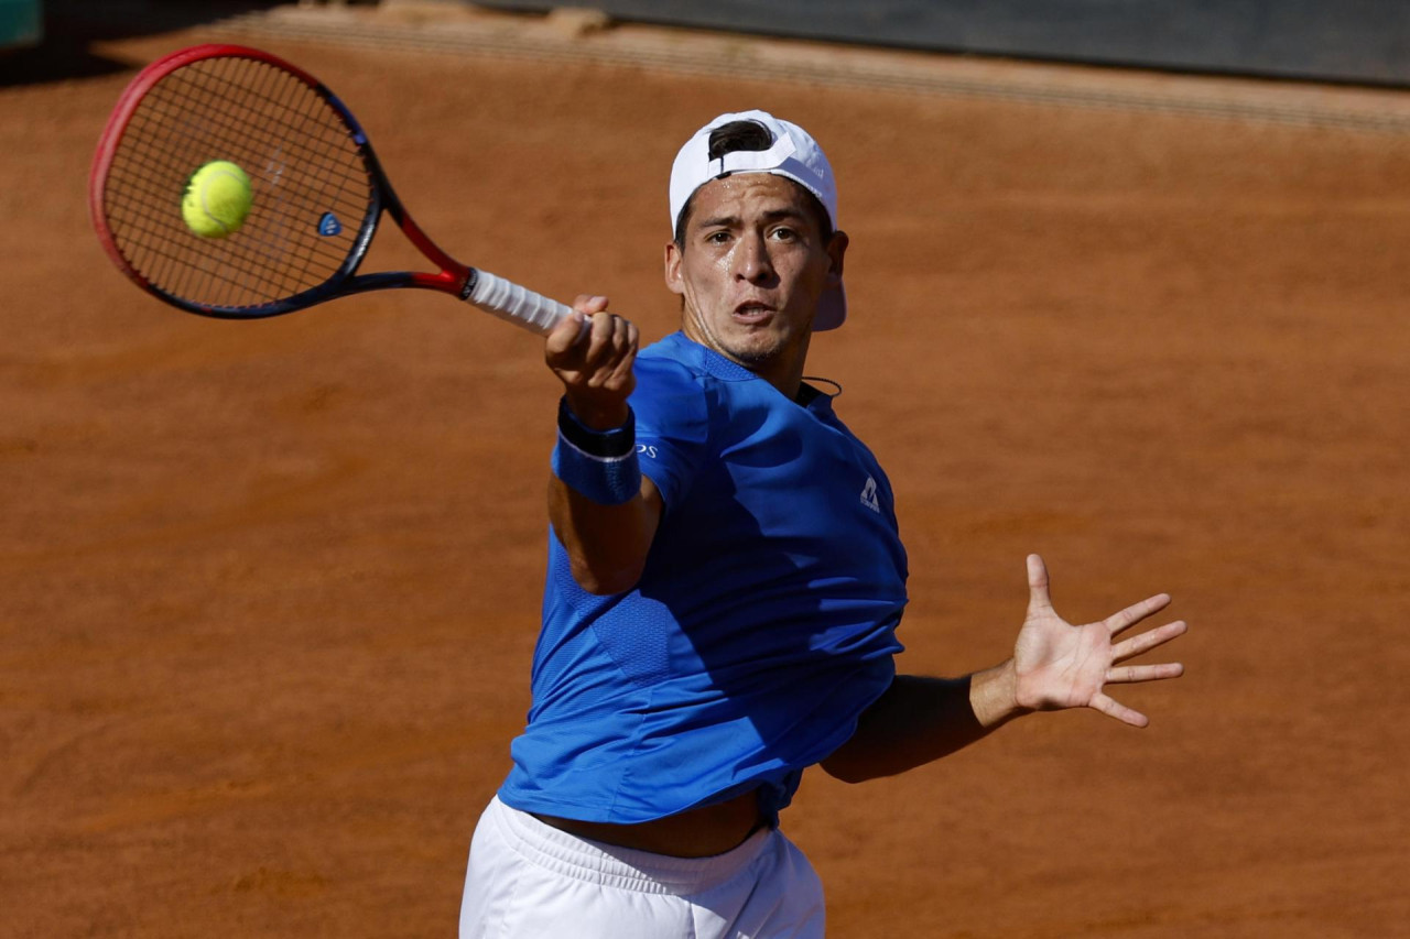
[[[582,591],[550,532],[533,706],[499,798],[646,822],[760,790],[852,736],[901,650],[891,486],[818,393],[795,403],[675,333],[636,361],[642,472],[664,498],[646,571]]]

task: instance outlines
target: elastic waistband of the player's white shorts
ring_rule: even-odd
[[[771,837],[780,837],[774,829],[760,829],[723,854],[671,857],[561,832],[529,812],[505,805],[498,795],[485,814],[509,846],[530,863],[595,884],[678,897],[729,883],[744,873]]]

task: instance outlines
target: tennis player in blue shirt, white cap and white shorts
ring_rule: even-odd
[[[795,124],[722,114],[670,203],[680,331],[637,355],[636,327],[580,297],[547,340],[564,395],[533,706],[475,830],[465,939],[822,936],[778,828],[805,768],[901,773],[1034,711],[1144,726],[1105,687],[1182,671],[1117,664],[1184,632],[1118,639],[1169,596],[1069,625],[1031,556],[1012,658],[898,675],[891,486],[802,378],[847,314],[832,168]]]

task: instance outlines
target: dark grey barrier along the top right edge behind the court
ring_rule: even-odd
[[[553,3],[477,0],[505,10]],[[943,52],[1410,86],[1410,0],[598,0],[639,23]]]

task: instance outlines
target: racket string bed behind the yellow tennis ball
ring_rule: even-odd
[[[227,159],[250,176],[244,226],[226,238],[186,227],[190,175]],[[142,97],[113,155],[104,214],[148,282],[214,307],[254,307],[334,278],[357,248],[372,183],[347,124],[300,78],[244,58],[200,59]],[[341,230],[331,234],[331,214]]]

